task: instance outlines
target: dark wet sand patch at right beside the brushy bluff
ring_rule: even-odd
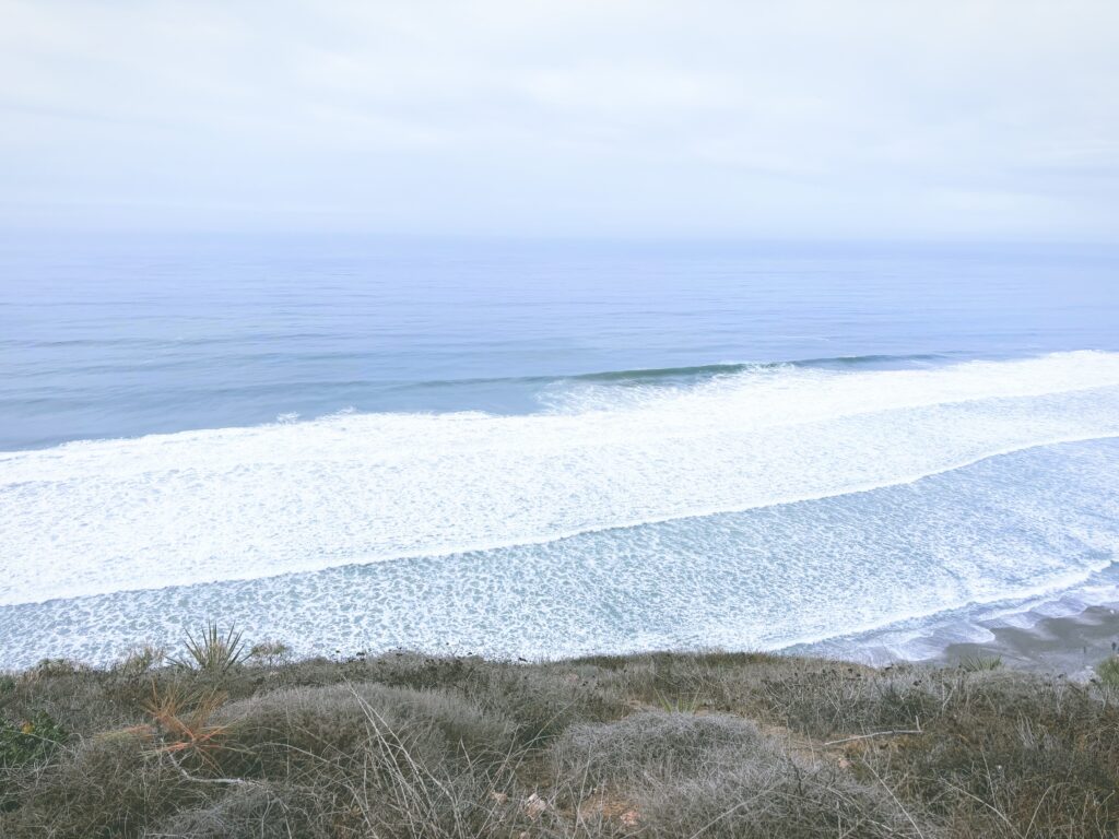
[[[1008,667],[1090,679],[1091,668],[1119,644],[1119,604],[1089,606],[1065,618],[1042,618],[1028,626],[980,623],[994,638],[981,643],[953,643],[934,659],[957,663],[971,657],[998,656]]]

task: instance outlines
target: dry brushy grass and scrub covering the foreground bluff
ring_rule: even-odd
[[[184,669],[153,651],[0,680],[16,756],[0,765],[0,836],[1119,831],[1103,684],[718,652],[241,661],[239,639],[216,638],[234,660]]]

